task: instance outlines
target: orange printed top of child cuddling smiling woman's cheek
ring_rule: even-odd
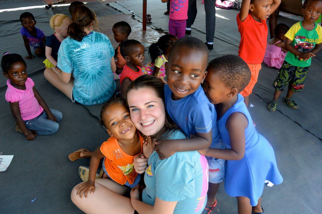
[[[141,152],[143,146],[143,137],[139,134],[141,141]],[[100,147],[101,152],[105,156],[104,165],[109,177],[119,184],[133,184],[137,177],[137,172],[134,170],[133,159],[135,156],[126,154],[118,144],[115,137],[110,137],[103,142]]]

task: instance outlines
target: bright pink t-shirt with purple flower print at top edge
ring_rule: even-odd
[[[173,20],[188,19],[188,0],[170,0],[169,18]]]

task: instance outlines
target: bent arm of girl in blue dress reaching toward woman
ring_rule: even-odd
[[[247,118],[240,112],[232,113],[227,121],[226,128],[229,133],[231,149],[213,149],[208,148],[199,151],[203,155],[225,159],[225,160],[240,160],[245,155],[245,129],[248,126]]]

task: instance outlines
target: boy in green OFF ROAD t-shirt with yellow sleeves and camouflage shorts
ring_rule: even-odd
[[[302,13],[303,21],[294,24],[285,34],[285,48],[289,52],[273,83],[274,97],[267,106],[271,112],[276,110],[279,95],[287,85],[284,103],[292,109],[298,109],[292,95],[303,90],[311,57],[322,48],[322,27],[315,23],[322,13],[322,0],[305,0]]]

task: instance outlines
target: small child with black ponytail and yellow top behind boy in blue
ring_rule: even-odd
[[[149,47],[151,62],[142,67],[142,72],[148,75],[166,77],[165,63],[168,62],[168,56],[171,46],[178,40],[171,34],[160,37],[156,43]]]

